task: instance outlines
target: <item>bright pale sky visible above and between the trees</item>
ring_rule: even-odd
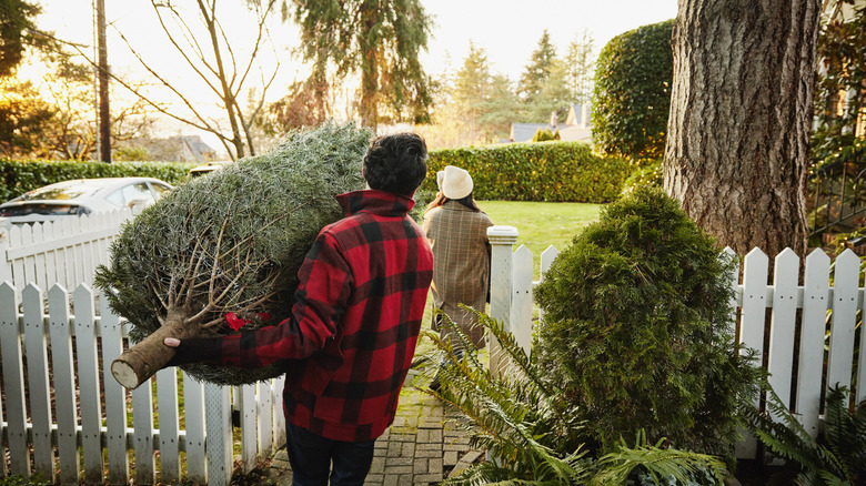
[[[560,55],[565,55],[570,42],[587,31],[594,39],[596,53],[613,37],[641,26],[661,22],[676,16],[677,0],[421,0],[433,18],[432,38],[421,55],[422,65],[431,75],[445,70],[456,71],[465,59],[470,42],[486,51],[494,72],[520,79],[544,30]],[[193,4],[192,0],[175,0],[177,4]],[[226,22],[226,34],[241,41],[250,40],[250,26],[244,23],[240,0],[218,2]],[[43,13],[37,19],[40,29],[82,44],[93,52],[93,0],[41,0]],[[147,74],[117,33],[123,32],[141,55],[157,67],[172,83],[187,87],[195,103],[216,110],[208,88],[195,81],[182,59],[167,43],[158,19],[148,0],[105,0],[109,64],[112,72],[130,78]],[[191,16],[194,16],[191,11]],[[276,61],[278,78],[269,101],[284,94],[284,87],[304,78],[304,68],[293,59],[291,49],[299,44],[298,30],[289,23],[273,22],[271,34],[278,47],[263,53],[265,69],[255,75],[269,77]],[[242,42],[236,43],[239,47]],[[239,49],[239,58],[242,57]],[[197,84],[198,83],[198,84]],[[175,130],[182,130],[180,128]]]

